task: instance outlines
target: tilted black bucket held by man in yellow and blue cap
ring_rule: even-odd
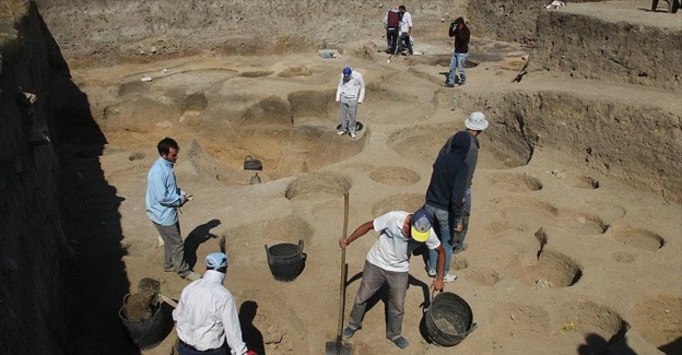
[[[424,313],[428,341],[440,346],[455,346],[473,332],[471,307],[454,293],[443,292],[434,297]]]

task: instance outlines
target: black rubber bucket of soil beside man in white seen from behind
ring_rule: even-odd
[[[166,312],[162,310],[161,305],[157,305],[152,317],[143,320],[129,320],[124,313],[124,308],[126,308],[126,301],[129,296],[130,294],[124,296],[124,306],[118,311],[118,317],[120,317],[124,327],[128,330],[130,340],[141,350],[156,346],[168,334],[166,329]]]

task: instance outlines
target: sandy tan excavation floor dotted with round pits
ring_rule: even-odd
[[[350,193],[349,233],[384,212],[421,206],[438,149],[470,114],[451,92],[511,91],[528,58],[520,46],[474,39],[467,85],[446,88],[439,72],[447,70],[450,43],[419,40],[416,56],[390,63],[377,39],[351,44],[336,59],[207,51],[73,70],[108,141],[99,163],[120,198],[130,292],[154,277],[177,299],[187,285],[163,272],[163,247],[144,213],[155,144],[172,137],[180,144],[178,185],[195,196],[180,214],[195,270],[204,271],[203,257],[225,236],[225,286],[255,312],[243,324],[254,347],[261,355],[322,353],[339,319],[343,192]],[[357,140],[336,134],[333,96],[345,66],[367,84]],[[502,129],[489,119],[489,130]],[[518,164],[486,132],[481,145],[469,248],[455,256],[459,279],[445,288],[471,306],[478,328],[456,347],[428,344],[420,322],[431,279],[418,253],[403,322],[410,346],[399,351],[386,340],[379,299],[348,342],[354,354],[680,354],[681,206],[602,177],[562,151],[537,146]],[[262,184],[249,185],[247,156],[262,162]],[[369,233],[348,249],[344,324],[375,238]],[[293,282],[275,281],[263,246],[301,240],[305,269]],[[169,354],[176,339],[172,331],[142,354]]]

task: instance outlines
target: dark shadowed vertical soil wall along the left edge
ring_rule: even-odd
[[[56,47],[45,29],[35,8],[17,22],[0,20],[0,353],[7,355],[63,354],[66,341],[57,274],[69,247],[57,154],[43,137],[52,123],[49,86],[62,68],[54,67]]]

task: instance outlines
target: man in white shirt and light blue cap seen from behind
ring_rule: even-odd
[[[187,285],[180,294],[173,320],[177,322],[180,355],[257,355],[246,347],[237,306],[223,282],[227,273],[227,256],[213,252],[205,257],[203,279]]]

